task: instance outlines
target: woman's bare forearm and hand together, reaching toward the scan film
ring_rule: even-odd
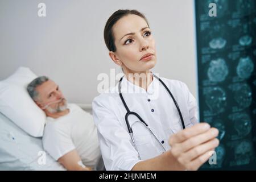
[[[217,129],[199,123],[170,137],[171,150],[135,164],[132,170],[197,170],[219,144]]]

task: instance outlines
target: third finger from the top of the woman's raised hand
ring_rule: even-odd
[[[206,143],[200,144],[200,146],[197,146],[195,148],[192,148],[191,150],[181,154],[177,160],[180,163],[189,163],[196,158],[198,158],[200,155],[203,155],[205,152],[210,151],[212,148],[218,147],[219,140],[217,138],[214,138],[212,140],[209,140]]]

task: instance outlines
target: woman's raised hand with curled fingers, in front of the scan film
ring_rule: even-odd
[[[211,156],[219,144],[218,130],[208,123],[198,123],[172,135],[169,139],[170,155],[177,169],[197,170]]]

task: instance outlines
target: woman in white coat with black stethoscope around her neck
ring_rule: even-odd
[[[115,11],[104,39],[124,73],[115,88],[93,100],[106,169],[196,170],[207,162],[218,130],[197,123],[196,100],[183,82],[150,71],[157,59],[145,16]]]

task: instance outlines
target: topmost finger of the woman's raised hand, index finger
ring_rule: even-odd
[[[210,129],[210,125],[208,123],[198,123],[188,129],[184,129],[179,131],[178,133],[172,135],[169,139],[169,144],[172,146],[175,143],[181,143],[188,138],[199,135],[208,131]]]

